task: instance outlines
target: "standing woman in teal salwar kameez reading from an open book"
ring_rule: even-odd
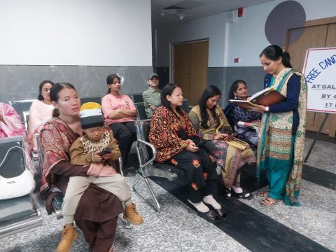
[[[260,53],[267,71],[264,87],[274,87],[286,99],[271,106],[255,106],[262,115],[258,144],[258,176],[266,174],[268,192],[260,204],[272,207],[284,201],[298,206],[302,177],[304,133],[306,128],[307,84],[300,71],[292,68],[290,55],[278,45],[269,45]]]

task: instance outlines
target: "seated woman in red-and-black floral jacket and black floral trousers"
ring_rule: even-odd
[[[183,171],[190,185],[188,202],[197,209],[197,214],[208,221],[220,221],[227,214],[212,195],[218,179],[214,158],[197,147],[200,137],[188,114],[180,109],[182,102],[181,87],[167,84],[161,92],[162,106],[155,110],[151,120],[149,141],[157,149],[157,162],[174,165]]]

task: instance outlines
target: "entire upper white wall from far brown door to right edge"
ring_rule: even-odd
[[[260,66],[258,56],[269,45],[265,22],[272,9],[283,1],[245,8],[244,16],[234,23],[228,22],[230,13],[219,13],[158,29],[158,66],[169,66],[169,43],[205,37],[209,38],[209,67]],[[296,1],[303,6],[306,20],[336,16],[335,0]],[[236,57],[240,57],[239,63],[234,63]]]

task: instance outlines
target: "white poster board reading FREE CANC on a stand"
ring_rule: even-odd
[[[308,87],[307,111],[336,113],[336,48],[310,48],[303,73]]]

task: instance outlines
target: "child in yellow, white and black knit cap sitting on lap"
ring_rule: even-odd
[[[109,166],[115,167],[115,165],[111,165],[111,161],[116,164],[120,158],[120,151],[113,135],[104,127],[101,106],[95,102],[87,102],[80,106],[80,123],[85,134],[78,137],[70,147],[71,164],[90,165],[91,162],[109,162]],[[108,153],[103,154],[102,151],[106,149],[108,149]],[[73,216],[80,197],[90,183],[108,190],[125,203],[123,216],[125,220],[134,225],[144,222],[137,213],[135,204],[132,203],[132,193],[125,178],[116,173],[109,177],[71,176],[62,204],[65,223],[73,223]]]

